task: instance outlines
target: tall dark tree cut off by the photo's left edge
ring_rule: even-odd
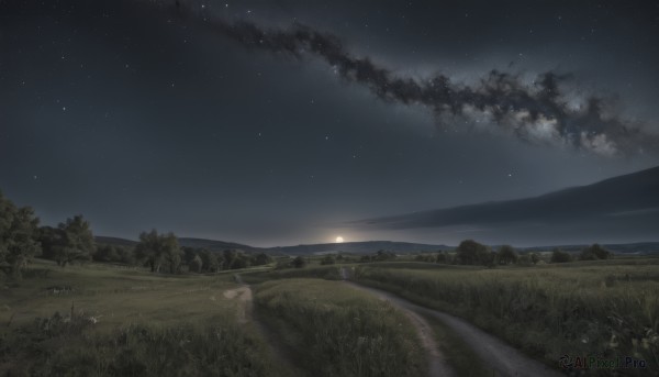
[[[14,278],[21,278],[23,267],[41,252],[38,218],[30,207],[16,208],[0,192],[0,266]]]

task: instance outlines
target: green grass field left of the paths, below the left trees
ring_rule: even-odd
[[[33,265],[0,296],[0,375],[272,376],[221,277]],[[231,296],[230,296],[231,297]],[[286,370],[284,370],[286,372]]]

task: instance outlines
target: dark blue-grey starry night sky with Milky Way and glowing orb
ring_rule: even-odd
[[[0,1],[0,190],[254,246],[659,165],[652,1]],[[633,240],[629,240],[633,241]]]

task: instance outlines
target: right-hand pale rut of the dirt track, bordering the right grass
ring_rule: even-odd
[[[503,343],[501,340],[485,333],[484,331],[476,328],[474,325],[466,322],[465,320],[436,310],[414,304],[388,291],[360,286],[355,282],[345,282],[350,285],[351,287],[371,292],[384,300],[388,300],[396,307],[412,312],[417,317],[420,317],[418,314],[432,315],[440,320],[462,337],[462,340],[478,354],[483,364],[489,369],[492,369],[493,376],[563,376],[559,372],[551,370],[548,366],[536,362],[532,358],[528,358],[527,356],[520,353],[517,350]],[[421,331],[422,330],[420,330],[420,333]],[[432,333],[429,332],[429,326],[427,328],[427,334],[431,334],[432,336]]]

